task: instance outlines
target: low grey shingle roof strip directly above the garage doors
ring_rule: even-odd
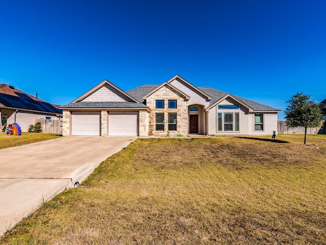
[[[135,102],[76,102],[60,108],[144,108],[147,106]]]

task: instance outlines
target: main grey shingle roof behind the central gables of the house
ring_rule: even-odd
[[[143,96],[148,94],[150,91],[152,91],[153,89],[157,88],[157,84],[151,84],[151,85],[143,85],[140,86],[138,88],[134,88],[131,89],[129,91],[127,91],[128,94],[130,94],[132,97],[134,97],[135,99],[137,99],[140,102],[144,102],[143,100]],[[209,96],[211,96],[211,100],[209,101],[209,105],[214,104],[216,101],[219,101],[220,99],[222,99],[225,95],[227,95],[228,93],[214,89],[214,88],[210,88],[210,87],[198,87],[201,91],[203,91],[204,93],[208,94]],[[233,97],[235,97],[235,99],[237,99],[238,101],[240,101],[241,103],[243,103],[244,105],[247,105],[248,107],[252,108],[254,111],[280,111],[279,109],[270,107],[270,106],[266,106],[254,101],[250,101],[247,99],[244,99],[242,97],[230,94]]]

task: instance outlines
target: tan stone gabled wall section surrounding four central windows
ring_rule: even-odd
[[[164,100],[164,109],[155,108],[156,100]],[[177,100],[177,108],[169,109],[168,100]],[[178,132],[183,135],[188,134],[188,106],[181,93],[166,85],[148,96],[146,105],[151,110],[149,114],[149,135],[165,136],[168,134],[168,113],[177,113],[177,130],[170,131],[170,135],[174,136]],[[164,113],[164,131],[155,130],[155,113]]]

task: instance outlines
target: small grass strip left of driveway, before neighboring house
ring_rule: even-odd
[[[21,135],[7,135],[6,133],[0,133],[0,150],[18,146],[18,145],[30,144],[38,141],[54,139],[58,137],[62,137],[62,135],[50,134],[50,133],[28,133],[28,132],[22,132]]]

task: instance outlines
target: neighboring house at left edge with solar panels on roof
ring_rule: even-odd
[[[35,119],[59,119],[62,110],[7,84],[0,84],[0,127],[16,122],[26,132]]]

